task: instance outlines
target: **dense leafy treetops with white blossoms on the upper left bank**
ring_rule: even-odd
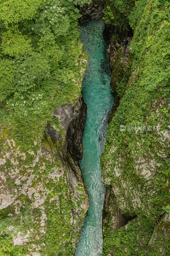
[[[18,0],[0,6],[0,122],[2,129],[11,124],[11,138],[24,151],[54,109],[80,95],[86,57],[73,4],[86,2]]]

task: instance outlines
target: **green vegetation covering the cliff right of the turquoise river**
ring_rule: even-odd
[[[170,92],[169,2],[139,0],[135,1],[133,8],[128,3],[126,8],[125,4],[126,1],[108,1],[105,7],[105,10],[110,8],[112,13],[116,10],[116,17],[121,12],[123,17],[124,13],[126,19],[122,18],[122,22],[129,22],[134,36],[127,68],[120,74],[121,78],[118,76],[116,92],[121,100],[108,126],[101,167],[104,183],[108,184],[107,180],[110,180],[106,186],[117,188],[116,198],[120,207],[123,205],[124,213],[138,217],[129,222],[128,227],[131,228],[128,231],[122,227],[119,231],[104,232],[103,255],[111,251],[121,256],[168,255],[167,237],[160,237],[150,251],[147,244],[152,235],[153,222],[164,212],[169,212],[168,141],[164,138],[164,143],[161,142],[170,120],[167,100]],[[118,30],[120,22],[114,20],[112,15],[105,12],[105,20]],[[119,63],[118,60],[115,65]],[[116,76],[113,77],[116,79]],[[114,80],[112,83],[115,86]],[[126,131],[121,132],[120,125],[125,125]],[[144,126],[146,129],[141,128]],[[148,180],[137,166],[137,161],[141,163],[142,159],[146,164],[158,163],[154,165],[154,171],[152,164],[146,167],[151,172]],[[119,172],[117,175],[115,166]],[[137,239],[140,238],[135,224],[138,219],[141,219],[140,232],[147,237],[144,244]],[[149,223],[152,223],[152,228],[147,229]]]

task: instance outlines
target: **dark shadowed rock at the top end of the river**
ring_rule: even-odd
[[[80,14],[82,17],[80,21],[85,23],[92,19],[99,19],[102,16],[102,11],[104,9],[103,0],[92,0],[89,6],[80,8]]]

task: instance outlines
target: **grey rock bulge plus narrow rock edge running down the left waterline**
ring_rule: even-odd
[[[73,225],[71,243],[74,247],[78,242],[75,234],[78,233],[78,237],[80,236],[81,226],[89,207],[88,192],[78,163],[83,155],[82,138],[86,111],[87,107],[82,96],[77,102],[59,106],[51,116],[52,122],[48,123],[44,130],[45,142],[48,142],[42,143],[44,154],[55,145],[52,154],[66,168],[68,196],[76,206],[71,209],[70,218],[70,224]],[[53,122],[54,119],[57,119],[57,124]],[[48,147],[49,141],[53,146]]]

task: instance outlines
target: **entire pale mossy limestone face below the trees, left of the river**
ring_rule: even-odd
[[[0,234],[27,256],[76,248],[89,207],[78,163],[85,117],[80,96],[55,109],[43,138],[34,142],[36,151],[23,152],[13,139],[3,138],[8,149],[0,158]]]

